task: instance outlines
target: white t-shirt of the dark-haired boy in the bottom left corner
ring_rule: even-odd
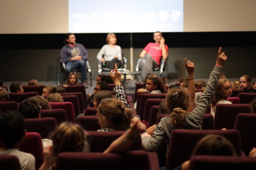
[[[35,157],[32,154],[21,152],[18,149],[0,151],[0,155],[13,155],[19,159],[21,170],[35,170]]]

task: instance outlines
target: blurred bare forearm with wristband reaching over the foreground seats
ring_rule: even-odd
[[[140,133],[146,130],[146,125],[139,119],[131,119],[130,128],[119,138],[114,140],[103,153],[125,152],[140,137]]]

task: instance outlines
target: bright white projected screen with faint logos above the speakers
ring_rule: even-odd
[[[183,32],[183,0],[69,0],[69,32]]]

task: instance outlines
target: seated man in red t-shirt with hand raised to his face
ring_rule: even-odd
[[[162,33],[155,32],[153,38],[155,43],[148,43],[139,55],[142,81],[145,80],[147,74],[153,72],[153,68],[159,66],[162,57],[164,60],[168,57],[168,46],[165,45]]]

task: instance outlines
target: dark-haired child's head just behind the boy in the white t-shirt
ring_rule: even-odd
[[[40,107],[37,102],[31,98],[23,100],[19,105],[19,112],[26,118],[40,118]]]

